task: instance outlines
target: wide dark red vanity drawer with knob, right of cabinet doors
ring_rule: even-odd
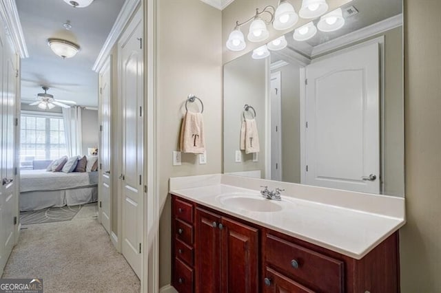
[[[290,243],[266,236],[267,264],[274,265],[296,281],[318,292],[344,292],[344,263]]]

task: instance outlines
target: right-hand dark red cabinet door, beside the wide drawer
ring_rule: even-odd
[[[258,292],[258,230],[223,217],[222,292]]]

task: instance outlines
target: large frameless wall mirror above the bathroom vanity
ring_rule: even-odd
[[[225,64],[224,173],[404,197],[402,0],[341,9]]]

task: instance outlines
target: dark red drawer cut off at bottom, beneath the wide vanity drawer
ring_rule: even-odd
[[[293,281],[287,276],[283,276],[283,274],[279,274],[268,267],[265,269],[263,292],[314,293],[314,291],[309,290],[307,287],[300,285],[296,281]]]

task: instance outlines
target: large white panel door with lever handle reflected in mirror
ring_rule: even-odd
[[[309,185],[380,193],[378,44],[307,66]]]

